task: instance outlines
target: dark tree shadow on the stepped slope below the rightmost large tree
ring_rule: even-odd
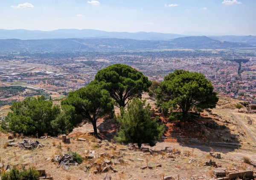
[[[165,118],[162,118],[165,119]],[[201,151],[227,153],[239,149],[239,135],[233,134],[230,122],[218,118],[194,117],[189,122],[163,121],[168,127],[165,135],[167,142],[177,142],[180,146],[198,148]]]

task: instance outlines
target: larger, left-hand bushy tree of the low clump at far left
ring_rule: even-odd
[[[9,129],[24,135],[43,135],[51,132],[51,121],[60,114],[58,106],[52,106],[52,101],[46,101],[44,96],[28,97],[23,101],[13,102],[5,121]]]

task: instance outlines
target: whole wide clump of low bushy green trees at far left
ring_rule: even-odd
[[[24,135],[67,134],[82,122],[81,115],[76,115],[75,107],[64,104],[60,109],[52,101],[46,101],[44,96],[14,102],[10,109],[12,112],[0,124],[1,129]]]

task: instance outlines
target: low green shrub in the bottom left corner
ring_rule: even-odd
[[[35,169],[17,170],[15,167],[10,172],[2,175],[2,180],[39,180],[39,172]]]

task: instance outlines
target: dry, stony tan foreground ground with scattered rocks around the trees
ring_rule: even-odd
[[[143,98],[154,104],[148,96]],[[221,98],[212,112],[203,112],[201,118],[189,124],[168,122],[161,117],[160,123],[166,124],[166,137],[154,147],[143,146],[143,150],[111,141],[119,128],[114,120],[99,121],[101,140],[89,134],[92,127],[88,124],[67,136],[70,143],[63,143],[62,136],[12,139],[12,135],[0,133],[0,169],[3,166],[3,172],[7,165],[32,166],[45,170],[54,180],[109,180],[109,176],[112,180],[224,180],[229,174],[230,178],[237,177],[241,174],[232,173],[244,171],[253,179],[254,142],[231,118],[230,112],[237,112],[234,104],[233,100]],[[156,111],[155,115],[160,113]],[[8,146],[10,143],[12,146]],[[83,162],[74,161],[71,152],[81,155]],[[244,163],[244,157],[251,163]]]

